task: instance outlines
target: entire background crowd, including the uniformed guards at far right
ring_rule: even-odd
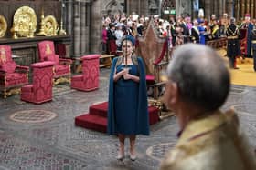
[[[168,20],[164,20],[158,15],[151,17],[154,19],[158,34],[167,38],[169,49],[185,43],[206,45],[209,40],[227,37],[230,68],[238,69],[235,60],[237,56],[253,56],[254,71],[256,71],[256,53],[251,53],[253,50],[256,51],[256,37],[253,37],[256,35],[252,32],[253,29],[256,29],[256,22],[254,20],[251,21],[249,14],[246,14],[244,20],[239,22],[229,17],[228,14],[223,14],[220,18],[217,18],[216,15],[211,15],[209,20],[204,18],[203,15],[198,15],[198,18],[193,20],[191,20],[190,16],[182,15],[177,15],[176,18],[170,17]],[[132,35],[135,39],[138,36],[143,36],[151,17],[140,16],[135,13],[129,16],[108,15],[103,17],[102,53],[115,55],[118,51],[121,51],[121,42],[125,35]],[[234,25],[238,28],[235,33],[232,30]],[[245,31],[240,32],[240,30]],[[246,50],[244,52],[240,52],[240,39],[242,38],[246,39],[244,44]],[[234,39],[237,39],[237,41]],[[234,50],[234,45],[239,51]]]

